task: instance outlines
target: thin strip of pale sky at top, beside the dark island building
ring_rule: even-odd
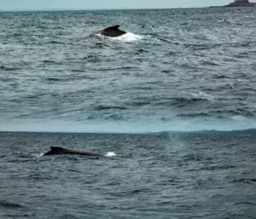
[[[0,10],[208,7],[225,5],[231,1],[233,0],[0,0]]]

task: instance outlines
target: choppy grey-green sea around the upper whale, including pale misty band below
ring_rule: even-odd
[[[255,128],[255,8],[0,20],[2,131]],[[84,38],[116,24],[129,35]]]

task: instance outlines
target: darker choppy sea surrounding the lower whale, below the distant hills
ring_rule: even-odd
[[[0,132],[0,218],[255,218],[255,135]],[[106,154],[39,157],[50,145]]]

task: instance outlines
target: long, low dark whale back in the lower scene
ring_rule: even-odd
[[[86,156],[93,156],[93,157],[104,157],[99,153],[88,152],[84,150],[72,150],[67,149],[64,147],[50,147],[50,150],[44,154],[46,155],[61,155],[61,154],[78,154],[78,155],[86,155]]]

